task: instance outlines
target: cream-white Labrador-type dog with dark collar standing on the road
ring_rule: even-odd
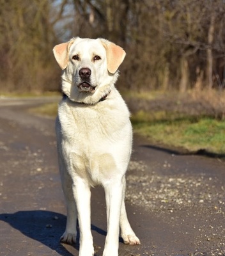
[[[62,71],[63,99],[56,118],[59,170],[67,220],[62,243],[75,243],[79,256],[92,256],[90,188],[103,186],[107,208],[104,256],[125,244],[140,244],[125,209],[125,173],[132,148],[130,113],[114,87],[125,51],[103,38],[72,38],[53,49]]]

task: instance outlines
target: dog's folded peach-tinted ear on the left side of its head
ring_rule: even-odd
[[[61,69],[65,69],[68,65],[68,55],[70,51],[70,46],[74,43],[75,38],[71,39],[67,43],[58,44],[53,48],[53,53],[56,58],[56,61],[59,64]]]

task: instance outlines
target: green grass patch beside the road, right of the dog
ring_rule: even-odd
[[[206,150],[225,154],[225,121],[213,118],[176,115],[160,111],[132,116],[134,132],[154,143],[182,147],[189,151]]]

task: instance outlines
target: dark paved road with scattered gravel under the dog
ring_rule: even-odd
[[[58,99],[0,99],[0,255],[78,255],[59,243],[65,205],[54,120],[27,108]],[[225,163],[180,154],[135,136],[127,172],[127,209],[140,246],[121,256],[225,255]],[[96,255],[105,239],[101,188],[92,191]]]

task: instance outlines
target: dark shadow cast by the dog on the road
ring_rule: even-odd
[[[19,230],[24,236],[48,246],[59,255],[73,255],[63,244],[59,243],[59,238],[65,231],[66,225],[66,216],[63,214],[50,211],[19,211],[12,214],[0,214],[0,220]],[[106,236],[106,232],[95,225],[91,225],[91,229]],[[77,243],[73,246],[79,250],[79,234]]]

